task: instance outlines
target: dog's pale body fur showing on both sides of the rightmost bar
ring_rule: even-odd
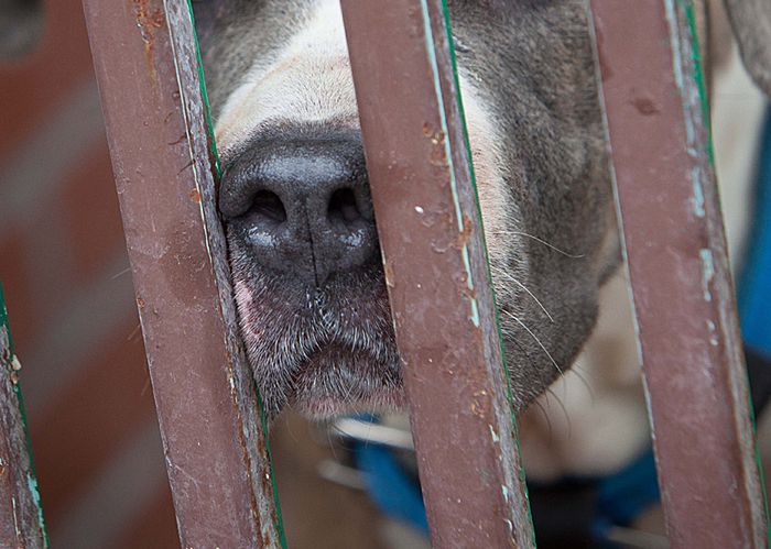
[[[713,140],[731,265],[751,230],[758,139],[768,106],[739,57],[719,0],[702,6],[699,29],[710,75]],[[650,446],[628,281],[625,270],[600,289],[600,312],[572,371],[520,417],[528,475],[540,481],[605,475]],[[769,437],[769,429],[759,437]]]

